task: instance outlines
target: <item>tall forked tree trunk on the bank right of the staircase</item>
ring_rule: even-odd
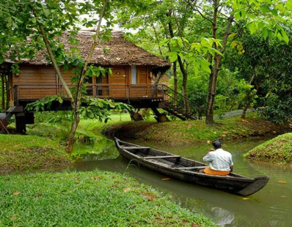
[[[218,14],[218,0],[213,1],[213,20],[212,20],[212,38],[216,39],[216,30],[217,30],[217,14]],[[222,42],[221,52],[225,51],[229,31],[231,24],[233,22],[234,16],[231,15],[228,18],[228,23],[225,29],[225,34]],[[217,49],[217,45],[213,43],[213,48]],[[214,65],[212,67],[210,77],[209,77],[209,88],[208,88],[208,97],[207,97],[207,106],[206,106],[206,123],[213,124],[213,109],[214,109],[214,100],[216,95],[216,85],[217,85],[217,76],[220,70],[222,56],[220,54],[215,53],[213,57]],[[210,62],[212,62],[210,60]]]

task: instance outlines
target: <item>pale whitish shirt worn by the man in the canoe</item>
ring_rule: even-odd
[[[222,148],[210,151],[203,160],[209,162],[209,168],[215,171],[230,171],[233,165],[231,153]]]

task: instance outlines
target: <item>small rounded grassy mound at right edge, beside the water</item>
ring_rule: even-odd
[[[286,133],[255,147],[246,157],[277,164],[292,164],[292,133]]]

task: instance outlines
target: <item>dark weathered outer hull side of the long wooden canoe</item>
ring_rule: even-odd
[[[192,183],[198,186],[203,186],[207,188],[222,190],[228,193],[240,195],[240,196],[249,196],[260,189],[262,189],[267,182],[269,181],[269,177],[258,177],[258,178],[247,178],[241,175],[236,175],[236,177],[231,176],[211,176],[202,174],[199,172],[194,171],[187,171],[187,170],[180,170],[175,169],[173,167],[167,166],[159,161],[153,161],[151,159],[143,159],[138,157],[135,154],[132,154],[120,145],[122,142],[123,144],[129,144],[133,146],[134,144],[126,143],[120,141],[118,139],[115,140],[117,149],[119,153],[128,160],[135,160],[139,165],[151,169],[152,171],[158,172],[160,174],[169,176],[171,178],[175,178],[184,182]],[[138,145],[135,145],[138,147]],[[152,149],[153,151],[156,151]],[[163,152],[163,151],[160,151]],[[165,154],[170,154],[165,152]],[[173,158],[166,158],[166,159],[173,159]],[[186,159],[186,158],[184,158]],[[190,159],[186,159],[190,160]],[[190,160],[193,161],[193,160]],[[198,165],[205,165],[201,162],[193,161],[194,163],[198,163]],[[207,167],[207,165],[205,165]]]

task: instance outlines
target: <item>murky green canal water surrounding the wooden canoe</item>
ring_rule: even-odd
[[[202,160],[210,145],[169,147],[145,141],[129,141],[143,146],[166,150],[191,159]],[[223,226],[292,226],[290,199],[292,198],[292,169],[289,166],[277,166],[270,163],[247,160],[242,155],[263,141],[242,141],[227,143],[223,147],[230,151],[234,159],[234,171],[248,177],[268,175],[270,181],[261,191],[247,198],[225,192],[207,189],[171,179],[162,181],[166,176],[148,171],[143,167],[128,166],[128,160],[118,156],[113,141],[96,154],[86,154],[87,161],[80,156],[76,166],[79,171],[99,168],[106,171],[127,173],[139,182],[151,185],[170,194],[182,206],[194,212],[204,213],[218,225]],[[106,159],[108,157],[109,159]],[[116,157],[116,158],[114,158]],[[96,160],[96,159],[105,160]],[[128,166],[128,167],[127,167]],[[279,181],[286,182],[285,184]]]

